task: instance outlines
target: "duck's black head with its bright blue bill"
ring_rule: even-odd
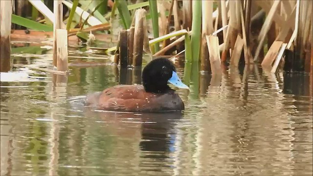
[[[157,58],[143,68],[142,84],[145,91],[153,93],[166,92],[171,90],[167,85],[168,83],[179,88],[188,88],[180,81],[176,68],[170,60]]]

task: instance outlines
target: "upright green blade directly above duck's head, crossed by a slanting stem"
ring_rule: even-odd
[[[157,14],[157,5],[156,0],[149,0],[151,17],[152,17],[152,27],[154,38],[158,38],[158,14]],[[155,44],[155,52],[160,50],[158,43]]]

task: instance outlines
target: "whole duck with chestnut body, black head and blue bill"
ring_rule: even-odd
[[[177,69],[167,58],[156,58],[142,70],[141,85],[116,85],[88,94],[84,103],[97,110],[122,112],[182,111],[184,102],[169,87],[189,89],[180,80]]]

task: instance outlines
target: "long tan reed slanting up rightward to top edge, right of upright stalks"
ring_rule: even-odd
[[[264,24],[262,26],[260,34],[259,34],[259,38],[258,38],[259,45],[258,45],[258,47],[257,47],[257,49],[255,51],[254,61],[258,60],[260,51],[263,48],[263,43],[264,43],[266,34],[268,33],[269,27],[270,27],[270,25],[271,25],[271,23],[273,21],[274,14],[275,14],[275,11],[276,11],[279,3],[280,3],[280,0],[274,1],[273,6],[271,7],[271,9],[268,12],[268,16],[267,16],[267,18],[266,18],[266,20],[265,20],[265,22],[264,22]]]

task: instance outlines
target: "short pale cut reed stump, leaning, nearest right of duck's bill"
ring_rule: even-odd
[[[221,57],[219,51],[219,38],[216,36],[205,36],[209,50],[209,58],[212,74],[221,74]]]

